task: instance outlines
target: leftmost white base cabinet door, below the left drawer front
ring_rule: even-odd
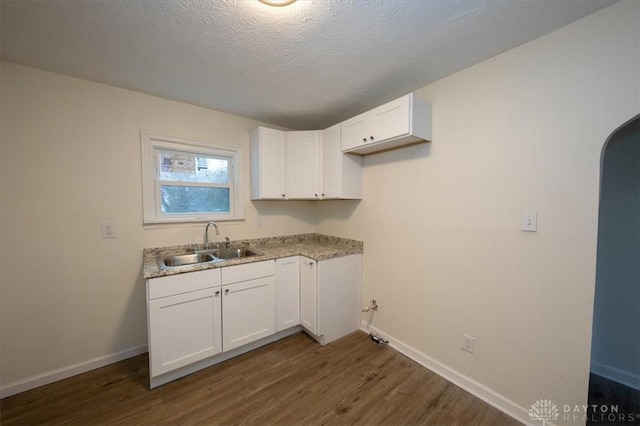
[[[222,352],[220,288],[149,301],[151,376]]]

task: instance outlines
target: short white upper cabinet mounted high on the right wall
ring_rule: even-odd
[[[371,154],[431,140],[431,104],[413,93],[340,124],[342,151]]]

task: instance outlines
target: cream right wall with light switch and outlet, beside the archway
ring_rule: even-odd
[[[433,142],[366,157],[363,201],[319,207],[317,232],[364,241],[372,325],[524,419],[540,398],[587,401],[600,155],[640,111],[639,8],[420,89]],[[525,211],[537,233],[519,230]]]

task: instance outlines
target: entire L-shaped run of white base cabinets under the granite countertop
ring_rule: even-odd
[[[291,256],[148,279],[151,387],[302,328],[322,344],[357,330],[361,266]]]

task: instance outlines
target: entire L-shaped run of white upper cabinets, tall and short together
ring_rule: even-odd
[[[431,104],[413,93],[325,130],[251,132],[252,200],[362,198],[362,155],[431,140]]]

